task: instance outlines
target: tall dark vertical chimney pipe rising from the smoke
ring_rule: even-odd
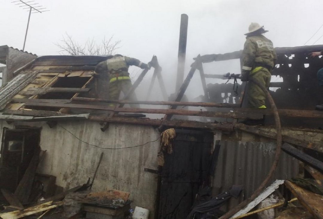
[[[186,56],[186,42],[187,42],[187,26],[188,16],[187,14],[181,15],[181,26],[180,26],[180,39],[178,43],[178,64],[177,64],[177,78],[176,78],[176,90],[175,93],[180,89],[184,81],[184,65]]]

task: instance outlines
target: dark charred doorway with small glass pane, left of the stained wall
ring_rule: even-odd
[[[3,129],[0,158],[0,188],[11,192],[23,177],[35,148],[39,146],[39,129]]]

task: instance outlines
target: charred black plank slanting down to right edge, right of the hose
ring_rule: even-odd
[[[282,150],[285,151],[287,154],[295,157],[296,159],[308,164],[319,171],[323,171],[323,162],[309,156],[308,154],[304,153],[303,151],[297,150],[295,147],[288,143],[284,143],[282,145]]]

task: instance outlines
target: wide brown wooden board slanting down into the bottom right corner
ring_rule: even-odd
[[[288,180],[285,180],[285,185],[315,218],[323,219],[323,196],[303,189]]]

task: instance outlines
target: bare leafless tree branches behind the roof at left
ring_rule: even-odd
[[[62,40],[55,43],[62,55],[113,55],[120,48],[121,41],[112,41],[113,35],[109,39],[104,37],[100,44],[97,44],[94,38],[91,40],[89,38],[84,45],[79,44],[68,33],[65,33],[65,35],[62,36]]]

